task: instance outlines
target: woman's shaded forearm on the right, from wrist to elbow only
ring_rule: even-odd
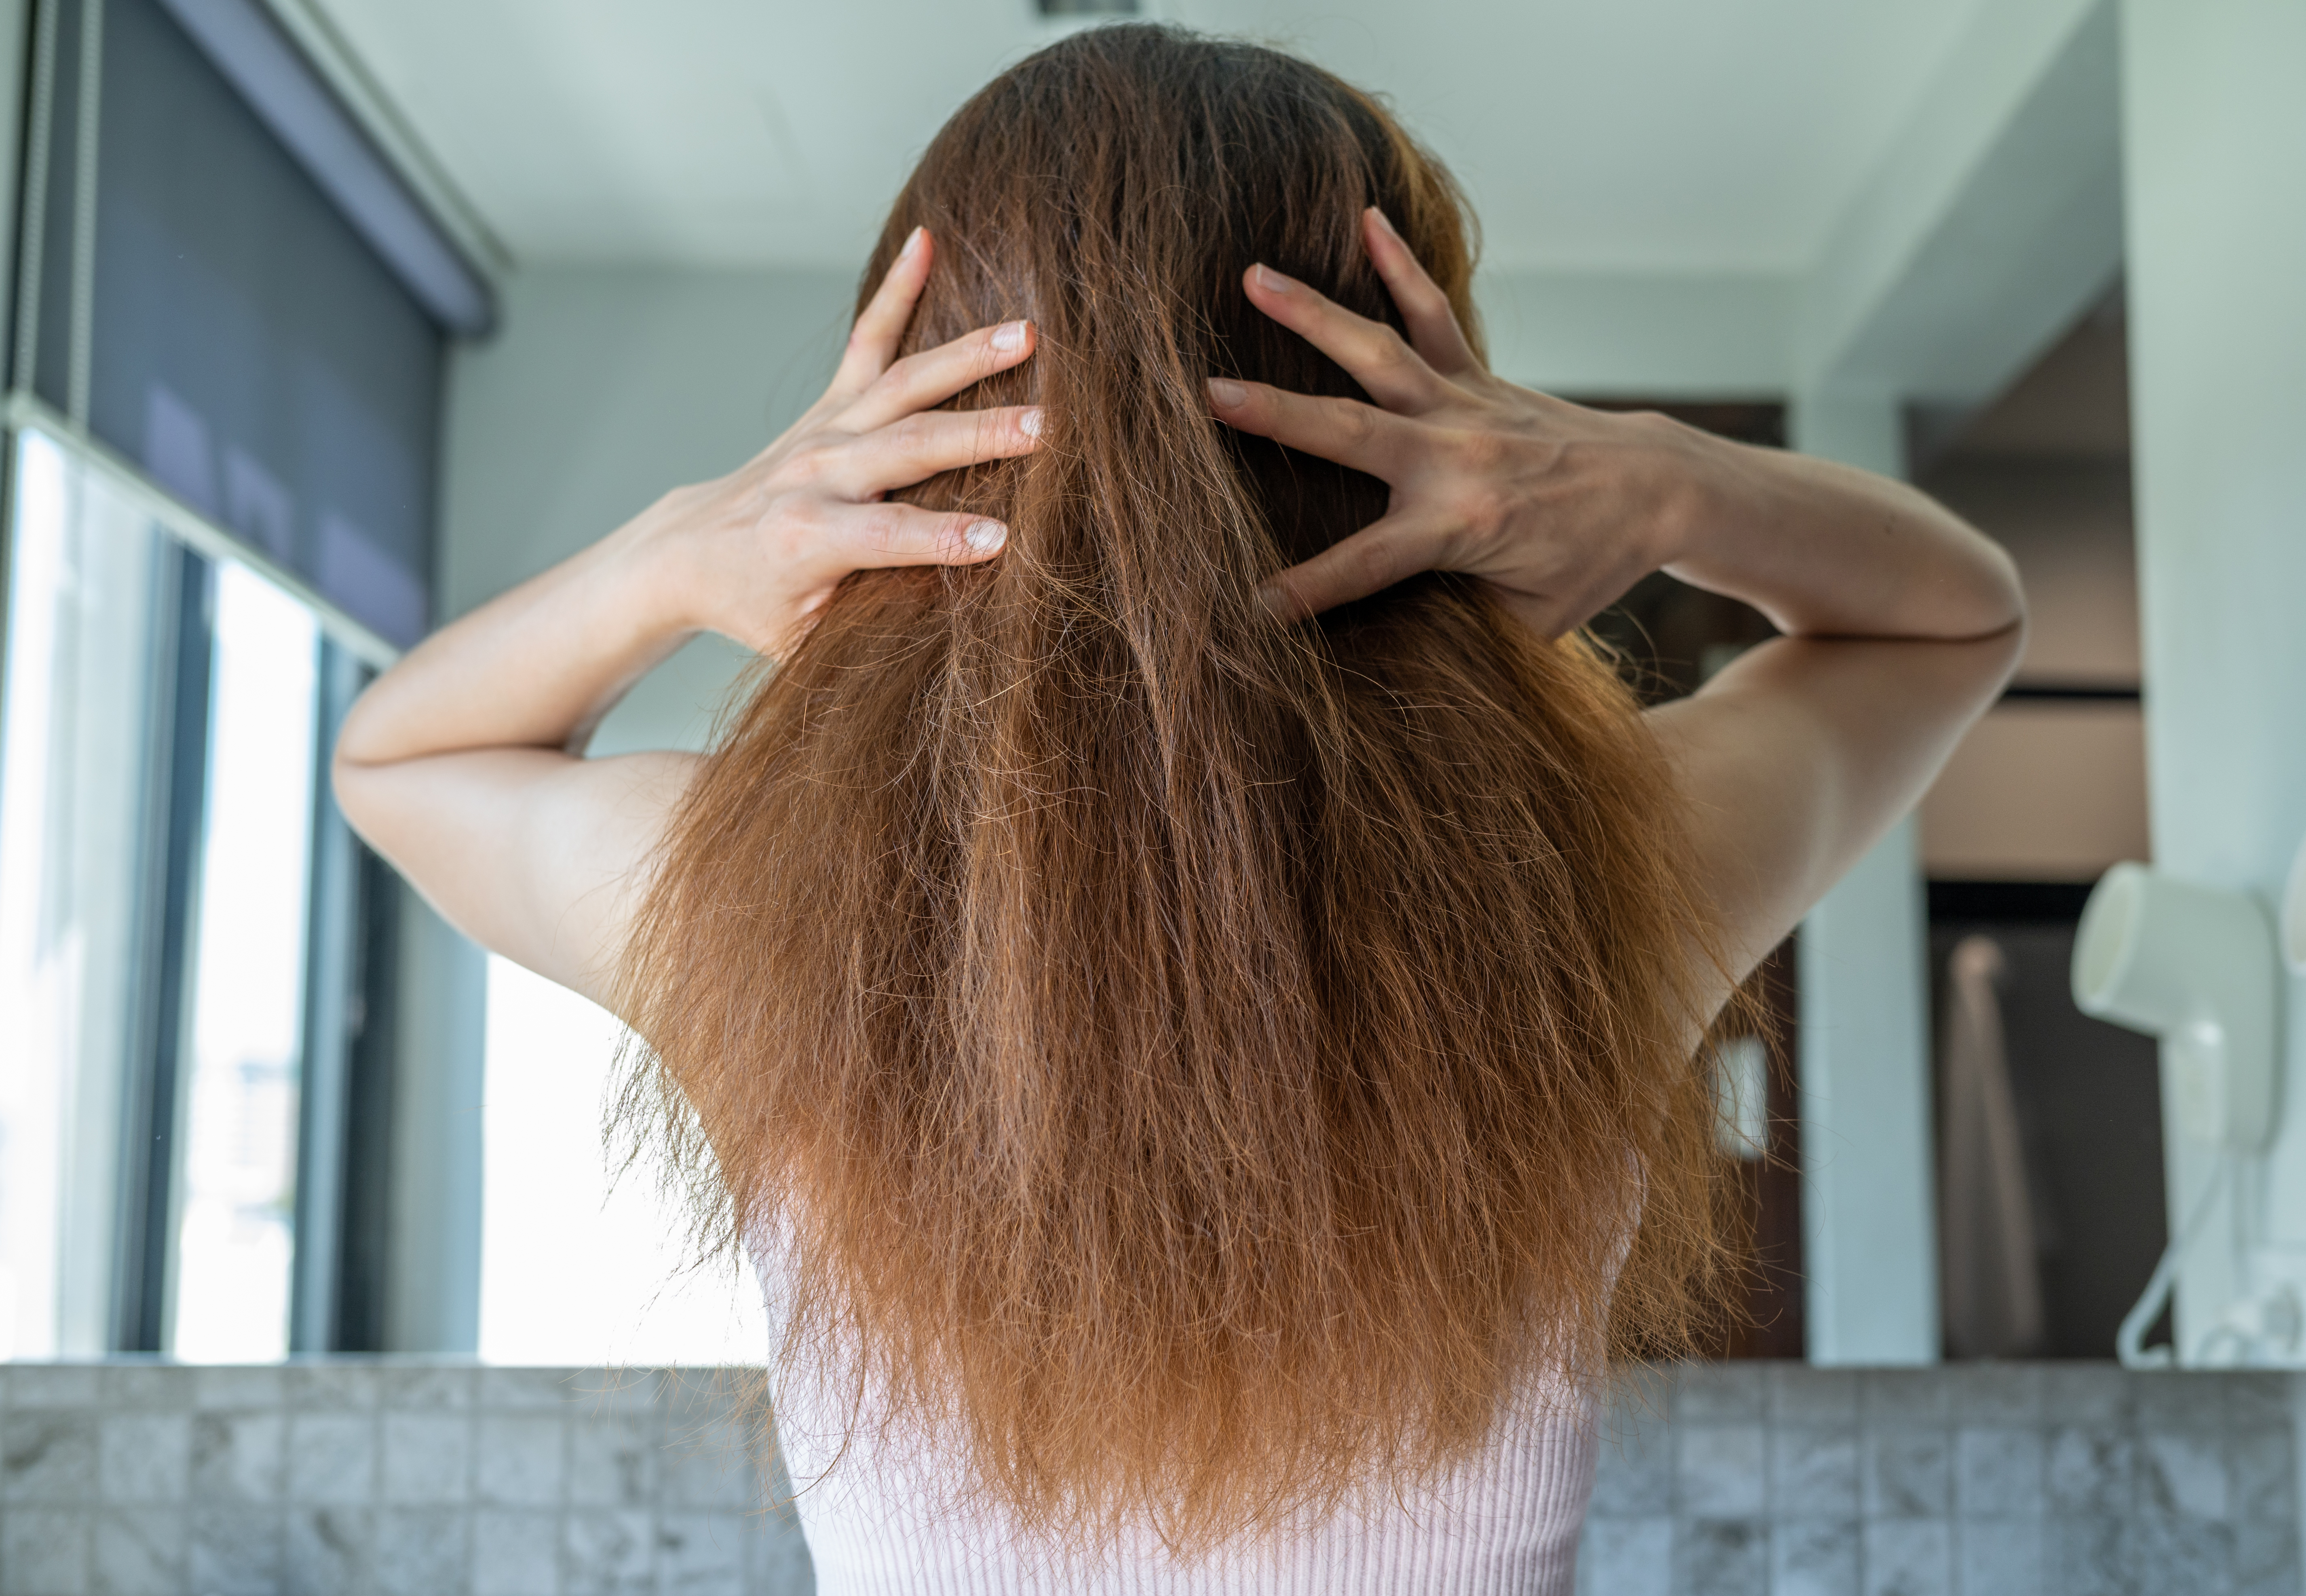
[[[1681,434],[1693,491],[1663,560],[1672,577],[1743,600],[1794,637],[1967,639],[2025,618],[2009,554],[1928,494]]]

